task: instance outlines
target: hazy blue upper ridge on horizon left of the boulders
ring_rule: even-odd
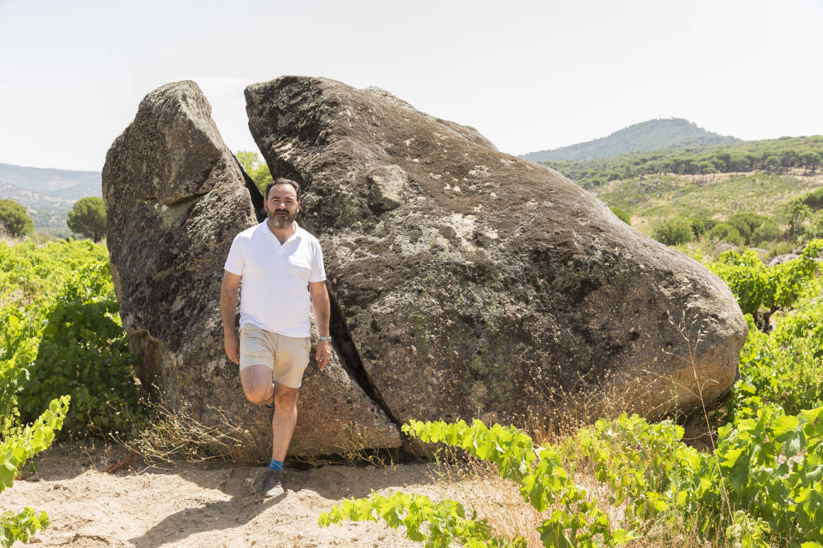
[[[0,163],[0,182],[37,194],[80,200],[86,196],[102,196],[100,172],[69,169],[26,168]],[[7,196],[0,196],[4,198]]]

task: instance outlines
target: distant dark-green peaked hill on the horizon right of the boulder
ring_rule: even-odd
[[[666,118],[640,122],[585,143],[530,152],[521,158],[532,162],[597,159],[627,152],[722,145],[737,141],[739,139],[735,137],[706,131],[683,118]]]

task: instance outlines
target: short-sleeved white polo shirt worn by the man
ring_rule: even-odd
[[[243,277],[240,328],[247,323],[286,337],[309,337],[309,282],[323,282],[323,251],[317,238],[295,223],[282,245],[267,221],[231,242],[226,270]]]

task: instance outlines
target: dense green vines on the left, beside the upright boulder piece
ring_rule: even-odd
[[[0,243],[0,283],[0,426],[70,394],[62,435],[128,434],[144,413],[105,247]]]

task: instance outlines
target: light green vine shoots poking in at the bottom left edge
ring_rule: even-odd
[[[14,484],[17,472],[29,458],[47,449],[54,440],[55,432],[63,427],[68,411],[68,396],[52,400],[49,408],[29,426],[16,426],[4,433],[0,445],[0,492]],[[49,516],[36,513],[26,507],[19,513],[7,511],[0,514],[0,544],[4,548],[15,541],[28,542],[31,535],[43,527],[49,527]]]

